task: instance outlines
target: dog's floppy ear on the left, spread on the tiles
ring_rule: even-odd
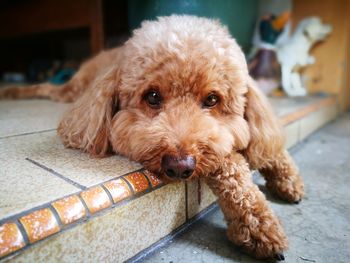
[[[115,111],[120,72],[110,68],[98,76],[58,126],[66,147],[104,156],[109,149],[109,129]]]

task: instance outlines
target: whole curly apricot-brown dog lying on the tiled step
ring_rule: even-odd
[[[123,47],[86,62],[68,84],[1,96],[75,101],[58,127],[65,146],[95,156],[114,151],[173,180],[205,178],[229,239],[258,258],[283,259],[286,236],[250,169],[292,203],[301,200],[303,182],[241,49],[219,22],[144,22]]]

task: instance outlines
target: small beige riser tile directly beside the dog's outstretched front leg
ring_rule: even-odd
[[[200,190],[199,190],[200,189]],[[192,218],[216,201],[216,196],[209,186],[200,180],[195,179],[187,182],[187,213]]]

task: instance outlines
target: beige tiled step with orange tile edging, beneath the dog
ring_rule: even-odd
[[[296,111],[292,111],[297,109],[301,112],[299,115],[304,116],[317,109],[315,105],[320,105],[320,102],[327,106],[324,113],[315,112],[316,117],[306,124],[302,124],[296,118]],[[310,129],[324,123],[325,116],[331,119],[336,115],[334,99],[328,99],[327,103],[320,98],[289,102],[274,100],[273,105],[282,118],[294,114],[291,123],[286,126],[289,145],[300,141],[303,138],[301,134],[304,136]],[[65,149],[55,128],[68,107],[67,104],[44,100],[0,102],[0,258],[25,247],[23,256],[40,260],[50,249],[56,249],[51,247],[52,244],[69,247],[70,244],[65,242],[69,236],[77,235],[74,233],[79,233],[78,229],[87,231],[83,237],[76,237],[78,240],[99,246],[96,242],[101,240],[93,237],[102,233],[108,235],[110,228],[120,232],[113,232],[113,235],[125,240],[124,247],[110,247],[117,252],[111,252],[108,257],[108,250],[101,256],[83,248],[77,252],[75,247],[74,253],[90,253],[92,258],[104,260],[115,259],[114,253],[119,253],[119,259],[125,260],[215,201],[206,185],[198,181],[162,186],[157,177],[147,171],[139,171],[142,168],[139,164],[123,157],[115,155],[96,159],[77,150]],[[151,208],[147,201],[139,201],[146,200],[145,196],[160,203],[152,204]],[[172,205],[166,203],[170,196],[177,200],[171,211]],[[158,211],[163,206],[167,206],[165,211],[170,212]],[[122,210],[126,213],[127,207],[135,211],[135,216],[137,214],[143,222],[136,222],[133,216],[126,220],[118,212]],[[149,209],[158,211],[159,216],[149,217]],[[128,215],[132,211],[128,211]],[[111,222],[112,218],[117,221],[109,225],[107,222]],[[120,225],[123,229],[118,228],[118,220],[124,222]],[[83,224],[85,221],[88,223]],[[136,242],[133,236],[125,236],[125,229],[130,227],[127,227],[128,224],[136,225],[138,234],[142,236],[140,241]],[[149,228],[149,224],[158,224],[159,227]],[[54,235],[66,230],[67,234]],[[51,235],[46,246],[46,242],[31,246]],[[138,245],[133,245],[133,242]],[[123,249],[128,246],[130,249],[126,253]],[[39,255],[38,251],[46,252]],[[73,254],[70,256],[73,257]],[[59,258],[59,255],[56,256]],[[18,258],[18,254],[11,257]]]

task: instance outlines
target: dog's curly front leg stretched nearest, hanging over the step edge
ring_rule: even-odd
[[[248,163],[240,154],[224,162],[207,183],[219,198],[228,223],[228,238],[258,258],[283,259],[284,231],[265,196],[253,183]]]

